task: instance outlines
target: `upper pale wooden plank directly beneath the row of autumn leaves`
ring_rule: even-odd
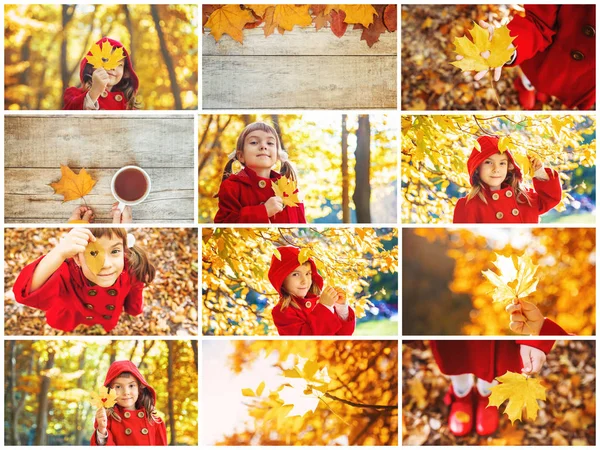
[[[240,44],[228,35],[219,42],[205,32],[202,35],[203,56],[396,56],[398,54],[397,33],[382,33],[379,42],[369,47],[360,40],[362,30],[348,27],[341,38],[333,34],[330,28],[316,31],[314,27],[294,28],[283,35],[275,32],[265,37],[263,27],[244,30],[244,43]]]

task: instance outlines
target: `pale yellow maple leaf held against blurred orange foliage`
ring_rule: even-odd
[[[495,286],[492,294],[495,302],[511,302],[535,292],[539,280],[534,275],[538,266],[533,264],[529,256],[508,257],[496,253],[494,265],[500,275],[491,270],[481,273]]]

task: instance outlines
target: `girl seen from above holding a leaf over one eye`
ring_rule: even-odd
[[[88,243],[104,253],[100,271],[88,266]],[[13,287],[17,302],[46,311],[48,325],[73,331],[100,324],[110,332],[123,310],[142,313],[142,291],[154,278],[154,266],[135,238],[123,228],[73,228],[50,253],[27,265]]]

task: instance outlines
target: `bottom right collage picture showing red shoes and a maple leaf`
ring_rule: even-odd
[[[593,446],[593,340],[402,341],[402,445]]]

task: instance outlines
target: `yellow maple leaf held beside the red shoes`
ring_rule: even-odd
[[[490,388],[492,394],[488,406],[500,406],[508,400],[504,414],[508,416],[511,423],[514,424],[515,420],[523,420],[521,418],[523,408],[527,408],[527,418],[535,420],[540,409],[537,401],[546,400],[546,388],[542,383],[536,378],[510,371],[497,377],[496,380],[500,384]]]

